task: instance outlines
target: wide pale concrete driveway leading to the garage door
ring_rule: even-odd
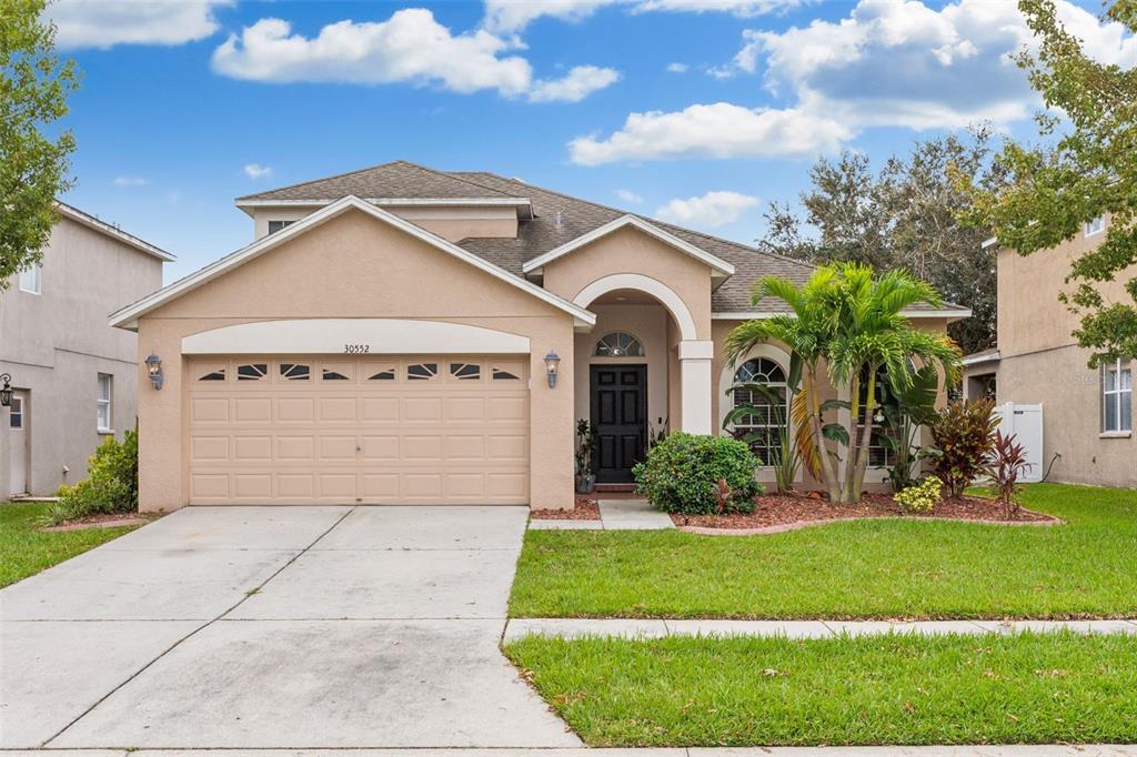
[[[0,591],[0,747],[572,747],[498,650],[523,507],[193,507]]]

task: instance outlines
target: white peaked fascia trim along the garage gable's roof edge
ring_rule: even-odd
[[[159,289],[157,292],[153,292],[152,294],[142,298],[138,302],[127,305],[126,307],[117,310],[116,313],[110,314],[109,323],[111,326],[121,326],[123,328],[135,328],[138,326],[138,319],[141,316],[146,315],[147,313],[150,313],[155,308],[160,307],[165,302],[176,299],[182,294],[184,294],[185,292],[192,291],[198,286],[201,286],[202,284],[213,281],[217,276],[221,276],[222,274],[226,273],[227,271],[236,268],[241,264],[251,260],[260,255],[264,255],[268,250],[272,250],[288,241],[291,241],[292,239],[351,209],[362,210],[363,213],[374,218],[383,221],[390,224],[391,226],[395,226],[396,228],[399,228],[410,234],[412,236],[421,239],[428,244],[431,244],[438,248],[439,250],[458,258],[459,260],[468,263],[475,268],[484,271],[489,275],[498,278],[499,281],[504,281],[505,283],[512,286],[516,286],[517,289],[521,289],[522,291],[525,291],[526,293],[532,294],[533,297],[543,300],[561,310],[564,310],[565,313],[573,316],[574,323],[576,325],[591,326],[596,324],[596,316],[586,310],[584,308],[580,307],[579,305],[574,305],[568,300],[565,300],[564,298],[558,297],[557,294],[554,294],[553,292],[541,286],[538,286],[537,284],[525,278],[512,275],[509,272],[503,271],[500,267],[493,265],[492,263],[483,258],[480,258],[476,255],[473,255],[467,250],[464,250],[460,247],[453,244],[451,242],[446,241],[441,236],[426,231],[422,226],[415,225],[409,221],[406,221],[405,218],[401,218],[389,210],[384,210],[383,208],[380,208],[371,202],[360,200],[355,196],[348,196],[341,198],[335,202],[332,202],[331,205],[327,205],[321,208],[319,210],[316,210],[315,213],[305,216],[294,224],[290,224],[289,226],[284,227],[283,230],[274,234],[262,236],[252,244],[243,247],[240,250],[236,250],[235,252],[226,255],[219,260],[210,263],[209,265],[196,271],[189,276],[180,278],[173,284],[164,286],[163,289]]]

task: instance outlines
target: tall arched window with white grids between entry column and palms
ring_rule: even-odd
[[[764,384],[770,390],[738,388],[731,391],[735,407],[749,405],[754,408],[752,414],[735,419],[731,433],[737,439],[748,440],[762,464],[770,465],[778,457],[789,417],[786,371],[770,358],[752,358],[735,372],[735,386],[739,384]]]

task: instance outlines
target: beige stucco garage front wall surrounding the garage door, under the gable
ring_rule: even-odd
[[[188,498],[183,336],[254,321],[335,317],[437,319],[530,338],[531,505],[572,506],[572,316],[349,210],[140,319],[140,343],[164,357],[166,374],[165,389],[140,396],[142,508],[177,508]],[[563,356],[556,389],[543,381],[549,349]]]

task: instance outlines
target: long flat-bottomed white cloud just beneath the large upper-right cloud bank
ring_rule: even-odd
[[[581,136],[568,149],[573,163],[597,166],[688,157],[813,156],[835,151],[852,136],[848,126],[823,115],[716,102],[673,113],[633,113],[611,136]]]

